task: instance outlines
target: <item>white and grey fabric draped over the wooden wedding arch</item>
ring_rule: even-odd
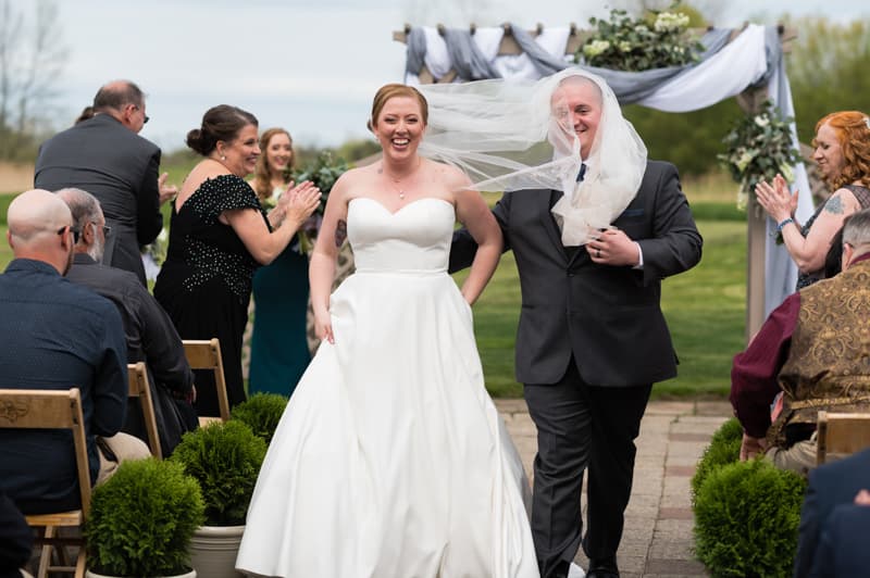
[[[573,24],[525,30],[513,24],[468,29],[414,27],[395,32],[408,46],[405,81],[409,85],[485,78],[537,79],[568,66],[581,66],[604,77],[621,104],[641,104],[666,112],[689,112],[736,97],[747,114],[760,112],[770,100],[783,117],[794,117],[784,52],[796,37],[782,26],[746,24],[743,28],[704,30],[700,60],[685,66],[624,72],[582,66],[573,54],[592,34]],[[791,124],[794,147],[797,129]],[[795,190],[809,191],[803,162],[793,166]],[[768,313],[794,291],[797,268],[785,247],[773,241],[776,224],[755,196],[747,204],[746,336],[755,334]],[[798,199],[800,222],[812,213],[809,194]]]

